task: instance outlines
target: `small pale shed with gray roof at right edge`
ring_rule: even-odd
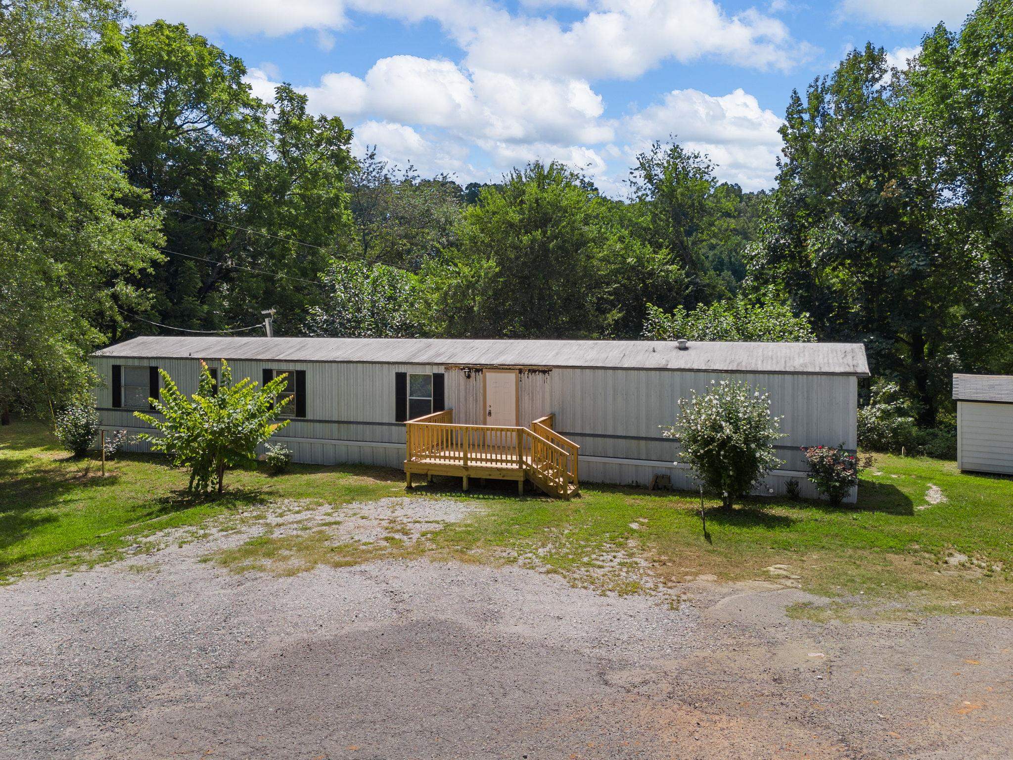
[[[953,375],[961,470],[1013,475],[1013,375]]]

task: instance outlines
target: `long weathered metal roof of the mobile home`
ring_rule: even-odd
[[[135,337],[96,352],[121,359],[230,359],[698,372],[869,374],[862,344],[470,340],[395,337]]]

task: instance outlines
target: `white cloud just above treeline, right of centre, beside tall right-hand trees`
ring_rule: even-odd
[[[774,183],[781,149],[781,119],[761,108],[756,97],[736,89],[714,96],[694,89],[673,90],[660,102],[624,120],[629,162],[653,140],[674,135],[683,147],[706,153],[721,179],[745,189]]]

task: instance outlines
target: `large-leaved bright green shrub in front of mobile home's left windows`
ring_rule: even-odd
[[[160,370],[162,389],[151,399],[161,420],[135,411],[139,420],[161,432],[142,433],[139,440],[151,443],[154,451],[167,454],[178,467],[189,467],[187,488],[207,492],[212,485],[221,493],[226,467],[254,459],[256,447],[289,424],[275,422],[278,411],[289,402],[285,390],[287,375],[280,375],[262,388],[248,377],[232,382],[232,370],[222,361],[221,379],[215,380],[203,365],[201,384],[191,397],[181,393],[169,373]]]

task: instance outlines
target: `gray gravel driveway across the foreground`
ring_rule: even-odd
[[[816,624],[771,583],[674,607],[426,560],[234,576],[200,561],[222,540],[0,589],[0,755],[1013,756],[1007,620]]]

